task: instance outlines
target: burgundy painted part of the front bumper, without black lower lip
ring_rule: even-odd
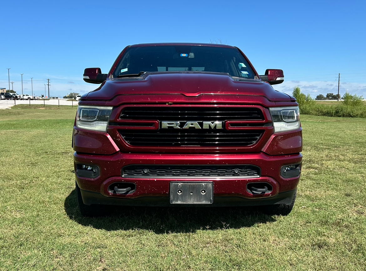
[[[94,164],[100,168],[100,176],[95,179],[76,177],[78,185],[83,190],[102,193],[111,197],[136,198],[146,195],[167,195],[170,181],[183,181],[182,179],[139,179],[122,178],[121,169],[130,164],[152,164],[152,165],[225,165],[225,164],[252,164],[261,168],[261,178],[233,178],[233,179],[208,179],[197,178],[189,181],[213,181],[214,195],[239,195],[241,197],[253,197],[246,192],[246,189],[237,190],[236,185],[242,186],[249,182],[262,182],[268,180],[273,187],[276,187],[269,195],[276,195],[279,192],[295,189],[299,178],[284,179],[280,176],[280,167],[300,163],[301,154],[270,156],[263,152],[259,154],[246,155],[181,155],[181,154],[128,154],[117,152],[114,155],[88,155],[74,153],[75,163]],[[107,187],[113,182],[134,182],[136,191],[130,195],[112,195]],[[239,182],[239,184],[238,184]],[[217,183],[217,187],[216,187]],[[232,186],[234,185],[234,187]],[[245,190],[245,191],[244,191]],[[269,196],[267,195],[267,196]],[[261,195],[259,195],[261,196]]]

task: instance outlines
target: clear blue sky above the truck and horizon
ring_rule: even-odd
[[[85,93],[86,67],[107,73],[122,49],[147,42],[238,46],[259,74],[283,69],[275,89],[366,97],[366,1],[1,1],[0,88]],[[11,87],[11,85],[10,85]]]

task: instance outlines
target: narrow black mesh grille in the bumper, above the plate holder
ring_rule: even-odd
[[[123,167],[126,178],[257,178],[260,169],[253,165],[131,165]]]

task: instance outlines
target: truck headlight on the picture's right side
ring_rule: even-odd
[[[299,107],[270,107],[276,132],[296,130],[300,127]]]

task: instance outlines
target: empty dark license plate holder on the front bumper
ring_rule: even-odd
[[[212,204],[212,182],[170,182],[171,204]]]

